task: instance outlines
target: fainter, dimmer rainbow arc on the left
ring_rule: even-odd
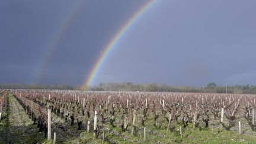
[[[79,13],[79,10],[84,5],[84,0],[76,1],[74,6],[69,10],[67,17],[62,21],[61,25],[55,33],[53,33],[51,41],[46,45],[46,52],[41,59],[39,66],[36,68],[34,75],[34,83],[37,84],[40,81],[41,76],[43,75],[47,64],[52,59],[53,54],[55,53],[59,43],[61,43],[63,36],[65,36],[66,31],[68,30],[69,25],[72,23],[75,15]]]

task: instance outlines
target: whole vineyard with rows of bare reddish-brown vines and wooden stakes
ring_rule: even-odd
[[[255,95],[17,89],[0,108],[0,143],[256,142]]]

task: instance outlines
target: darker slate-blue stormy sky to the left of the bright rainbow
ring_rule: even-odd
[[[55,41],[56,30],[66,23],[76,2],[0,2],[2,82],[33,83],[40,70],[40,84],[82,84],[117,28],[146,1],[84,1],[59,36],[49,63],[41,67],[49,55],[45,54],[49,43]]]

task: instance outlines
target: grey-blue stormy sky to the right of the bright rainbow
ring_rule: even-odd
[[[134,79],[256,85],[255,6],[255,1],[159,1],[115,47],[95,84]]]

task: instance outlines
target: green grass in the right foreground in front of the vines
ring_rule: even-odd
[[[193,124],[189,124],[183,130],[183,137],[180,137],[180,126],[177,125],[173,132],[166,129],[155,129],[151,123],[146,124],[146,142],[143,138],[143,129],[132,136],[130,130],[121,132],[120,127],[105,126],[105,143],[255,143],[256,136],[247,134],[239,135],[238,132],[225,129],[193,129]],[[71,143],[101,143],[102,133],[95,139],[92,132],[81,133],[80,137],[70,140]]]

